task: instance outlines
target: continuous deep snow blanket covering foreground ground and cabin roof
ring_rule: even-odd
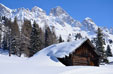
[[[78,42],[79,46],[86,39],[80,43],[78,41],[63,42],[60,44],[53,44],[47,48],[42,49],[31,58],[24,56],[17,57],[12,55],[9,57],[6,53],[0,54],[0,74],[113,74],[113,57],[109,57],[110,64],[95,66],[64,66],[58,61],[56,57],[67,55],[71,51],[66,51],[69,46]],[[75,44],[74,44],[75,43]],[[65,51],[60,51],[65,45]],[[65,52],[59,55],[58,53]]]

